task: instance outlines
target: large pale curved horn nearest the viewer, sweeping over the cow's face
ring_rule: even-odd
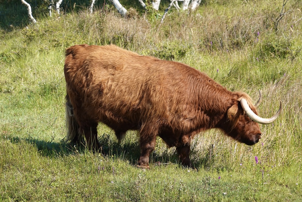
[[[255,121],[259,124],[270,124],[270,123],[274,122],[278,118],[279,114],[281,113],[281,109],[282,109],[282,104],[280,101],[279,110],[274,116],[272,116],[271,118],[261,118],[251,110],[251,108],[249,107],[249,104],[247,104],[246,99],[242,98],[240,100],[240,104],[241,104],[243,110],[245,111],[246,115],[248,115],[249,118],[251,118],[253,121]]]

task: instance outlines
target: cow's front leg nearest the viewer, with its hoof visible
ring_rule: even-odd
[[[146,125],[140,130],[140,159],[137,167],[149,169],[149,156],[156,145],[158,130],[153,125]]]

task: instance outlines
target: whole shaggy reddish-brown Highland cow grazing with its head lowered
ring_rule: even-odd
[[[66,126],[69,142],[85,136],[86,146],[101,150],[98,122],[111,127],[121,140],[127,130],[140,131],[138,167],[149,168],[156,136],[176,147],[182,165],[189,159],[194,135],[220,128],[248,145],[261,138],[251,98],[231,92],[188,65],[141,56],[114,45],[75,45],[66,49]],[[257,123],[258,122],[258,123]]]

